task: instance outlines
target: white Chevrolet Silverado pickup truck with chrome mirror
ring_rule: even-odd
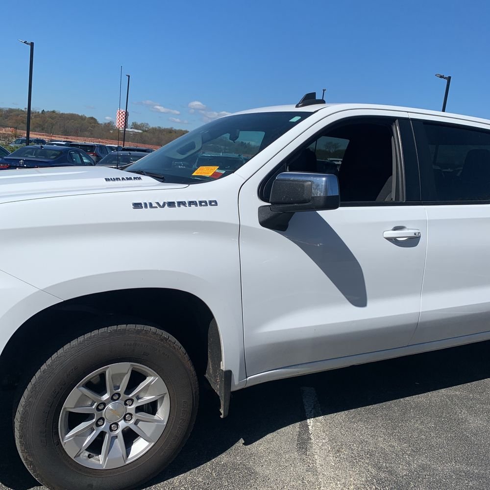
[[[0,373],[50,489],[130,489],[264,381],[490,338],[490,121],[325,104],[0,174]]]

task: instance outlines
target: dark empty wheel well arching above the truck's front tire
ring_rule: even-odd
[[[118,323],[149,324],[170,333],[186,349],[199,378],[209,379],[208,372],[221,370],[221,339],[208,306],[183,291],[142,288],[80,296],[37,313],[14,333],[1,354],[0,373],[7,373],[3,384],[26,386],[63,345]],[[213,380],[210,384],[220,394],[222,387]]]

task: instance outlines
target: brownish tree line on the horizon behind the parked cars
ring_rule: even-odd
[[[26,129],[26,111],[22,109],[0,108],[0,125]],[[187,133],[184,129],[173,127],[150,126],[148,123],[132,123],[131,129],[139,129],[141,133],[126,132],[126,141],[147,145],[166,145],[170,141]],[[84,138],[99,138],[117,140],[118,129],[114,122],[99,123],[94,117],[60,111],[32,111],[32,132],[80,136]],[[121,131],[121,139],[123,131]]]

